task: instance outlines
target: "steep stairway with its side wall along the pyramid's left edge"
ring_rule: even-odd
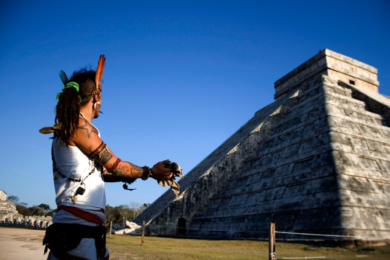
[[[237,145],[240,144],[245,138],[253,133],[258,133],[259,127],[267,127],[262,125],[262,122],[273,113],[281,103],[285,102],[288,98],[274,102],[267,107],[256,112],[255,116],[250,119],[244,126],[237,130],[230,138],[223,142],[215,151],[208,155],[202,162],[200,162],[195,168],[189,171],[185,178],[179,180],[180,194],[177,198],[172,195],[171,191],[165,192],[162,196],[156,199],[148,208],[146,208],[140,215],[138,215],[133,222],[141,224],[142,221],[149,221],[154,219],[153,225],[168,226],[167,224],[177,225],[178,218],[185,218],[189,221],[192,215],[197,214],[210,202],[210,198],[225,188],[223,185],[227,181],[227,176],[223,174],[212,174],[216,169],[223,168],[228,162],[236,162],[242,160],[237,158],[237,153],[234,153],[237,149]],[[255,137],[254,134],[253,137]],[[257,141],[252,142],[252,146],[257,146]],[[253,148],[247,148],[252,150]],[[253,153],[250,151],[249,153]],[[226,157],[227,156],[227,157]],[[221,165],[219,162],[222,158],[228,158]],[[219,165],[217,166],[217,164]],[[229,166],[238,167],[238,166]],[[204,180],[203,180],[204,178]],[[189,198],[189,199],[184,199]],[[173,210],[171,210],[171,205]],[[172,215],[174,217],[172,218]],[[157,217],[158,216],[158,217]],[[161,219],[166,219],[161,221]],[[158,220],[159,219],[159,220]],[[170,219],[167,223],[167,219]],[[149,226],[152,228],[152,223]],[[157,228],[156,228],[157,229]],[[158,228],[160,230],[161,228]],[[170,229],[171,232],[176,232],[174,229]]]

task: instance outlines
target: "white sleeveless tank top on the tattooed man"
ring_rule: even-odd
[[[87,210],[106,210],[102,166],[77,146],[61,145],[59,138],[53,139],[53,156],[56,204]],[[82,182],[74,180],[82,180]],[[78,194],[74,199],[78,187],[84,188],[85,192],[83,195]]]

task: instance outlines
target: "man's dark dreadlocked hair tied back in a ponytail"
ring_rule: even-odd
[[[76,134],[80,107],[85,106],[96,91],[95,76],[96,72],[93,70],[75,71],[69,81],[78,83],[78,92],[75,88],[65,88],[60,95],[55,123],[61,124],[61,129],[56,131],[55,136],[66,145],[69,145],[69,139]]]

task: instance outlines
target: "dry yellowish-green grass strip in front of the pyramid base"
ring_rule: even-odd
[[[112,235],[107,237],[110,260],[268,260],[268,242],[247,240],[200,240],[166,237]],[[387,260],[390,246],[317,247],[276,242],[278,259],[326,257],[334,260]],[[324,259],[324,258],[322,258]]]

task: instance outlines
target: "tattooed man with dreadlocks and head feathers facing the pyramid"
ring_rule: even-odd
[[[64,87],[57,95],[55,125],[41,133],[54,133],[52,160],[57,213],[47,228],[43,244],[50,249],[48,260],[107,260],[106,197],[104,182],[132,183],[149,177],[157,181],[172,178],[164,163],[152,168],[125,162],[100,138],[91,123],[99,116],[101,79],[105,65],[100,56],[97,70],[75,72],[68,80],[60,72]]]

